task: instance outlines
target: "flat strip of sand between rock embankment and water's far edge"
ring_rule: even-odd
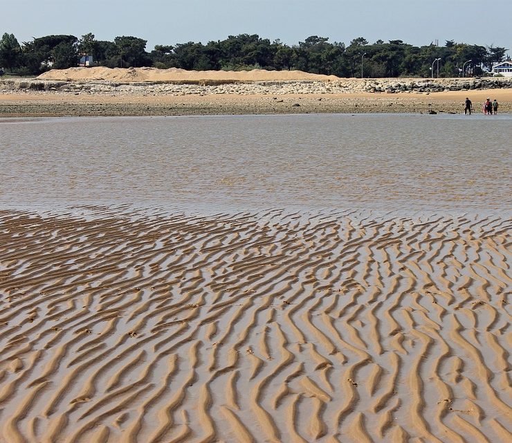
[[[464,113],[470,96],[475,114],[490,96],[500,102],[500,113],[512,112],[512,89],[436,93],[336,93],[271,96],[106,96],[104,94],[37,93],[0,94],[0,116],[176,116],[217,114],[317,114],[317,113]]]

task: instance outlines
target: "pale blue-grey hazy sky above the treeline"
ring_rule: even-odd
[[[504,46],[512,54],[512,0],[0,0],[0,33],[98,40],[133,35],[156,44],[207,43],[258,34],[298,44],[310,35],[423,46],[446,40]]]

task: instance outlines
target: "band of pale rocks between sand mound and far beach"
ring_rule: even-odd
[[[478,89],[512,88],[509,78],[447,79],[337,79],[337,80],[183,80],[158,82],[112,82],[107,80],[58,81],[42,79],[0,80],[0,93],[58,92],[69,95],[108,96],[208,96],[287,95],[339,93],[435,93]]]

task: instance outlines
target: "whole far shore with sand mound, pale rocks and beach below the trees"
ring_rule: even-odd
[[[0,115],[460,114],[468,96],[476,113],[487,97],[497,99],[499,112],[509,113],[512,85],[505,82],[340,79],[300,71],[82,68],[0,81]]]

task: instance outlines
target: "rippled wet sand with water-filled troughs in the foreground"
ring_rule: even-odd
[[[508,442],[511,220],[0,213],[0,440]]]

